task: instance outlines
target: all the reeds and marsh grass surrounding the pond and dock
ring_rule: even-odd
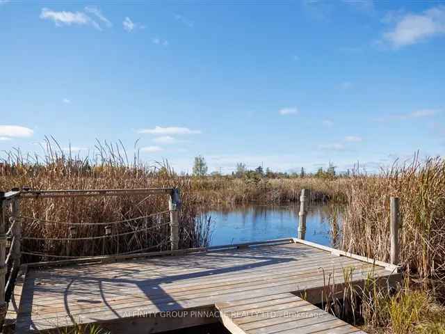
[[[389,197],[401,198],[401,266],[403,289],[357,292],[359,314],[369,333],[445,333],[445,160],[441,157],[395,163],[377,175],[345,173],[334,166],[308,175],[270,170],[245,170],[237,166],[233,175],[207,175],[204,159],[198,159],[192,175],[178,175],[163,161],[156,166],[140,162],[138,153],[129,161],[121,143],[97,143],[94,159],[79,159],[64,152],[54,141],[44,148],[44,158],[24,157],[19,150],[6,153],[0,164],[0,189],[17,186],[31,189],[123,189],[172,187],[181,190],[179,247],[207,246],[211,222],[202,218],[200,207],[227,206],[247,202],[283,204],[298,202],[301,189],[310,189],[314,201],[341,203],[341,248],[359,255],[389,261]],[[202,157],[197,157],[202,158]],[[239,168],[238,168],[239,167]],[[205,170],[205,173],[203,173]],[[238,173],[239,172],[239,173]],[[242,173],[241,173],[242,172]],[[69,228],[45,221],[72,223],[118,221],[167,209],[162,196],[86,199],[36,199],[21,206],[22,216],[35,217],[23,224],[23,235],[44,238],[67,237]],[[335,219],[337,220],[337,219]],[[168,221],[156,216],[136,221],[131,228]],[[337,225],[337,224],[336,224]],[[128,226],[126,227],[128,228]],[[124,227],[122,227],[124,231]],[[104,242],[44,244],[26,240],[23,249],[45,256],[25,255],[26,261],[56,260],[50,255],[91,256],[168,249],[168,226],[149,234]],[[81,227],[76,237],[104,235],[103,228]],[[371,293],[372,292],[372,293]],[[344,303],[344,301],[343,301]]]

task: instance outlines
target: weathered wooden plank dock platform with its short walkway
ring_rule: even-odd
[[[159,333],[214,321],[234,334],[364,333],[313,304],[326,289],[343,291],[344,271],[354,285],[401,279],[394,265],[300,239],[154,255],[24,265],[7,317],[17,317],[16,333],[74,324]]]

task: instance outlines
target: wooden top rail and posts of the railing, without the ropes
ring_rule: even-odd
[[[15,279],[22,259],[22,239],[41,239],[22,237],[22,217],[20,203],[29,198],[76,198],[95,196],[137,196],[137,195],[168,195],[168,212],[170,213],[170,248],[177,250],[179,244],[179,209],[181,197],[177,188],[150,188],[150,189],[79,189],[79,190],[32,190],[13,189],[0,191],[0,328],[6,316],[8,299],[13,292]],[[10,210],[8,214],[8,210]],[[162,212],[164,213],[164,212]],[[8,215],[7,215],[8,214]],[[6,219],[6,216],[10,216]],[[8,224],[9,223],[9,224]],[[116,222],[114,222],[116,223]],[[71,224],[79,225],[79,224]],[[94,239],[97,237],[92,237]],[[71,240],[88,238],[67,238]],[[62,240],[62,239],[60,239]],[[9,244],[9,245],[8,245]],[[8,249],[8,254],[6,250]]]

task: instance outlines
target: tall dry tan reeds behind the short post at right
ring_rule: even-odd
[[[401,264],[425,283],[445,281],[445,160],[417,157],[348,182],[343,249],[389,262],[389,198],[401,198]]]

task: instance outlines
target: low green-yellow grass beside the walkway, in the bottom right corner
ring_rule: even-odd
[[[362,285],[353,285],[355,269],[343,269],[342,288],[334,273],[324,273],[321,308],[366,333],[444,334],[445,308],[424,286],[410,278],[394,289],[370,271]]]

